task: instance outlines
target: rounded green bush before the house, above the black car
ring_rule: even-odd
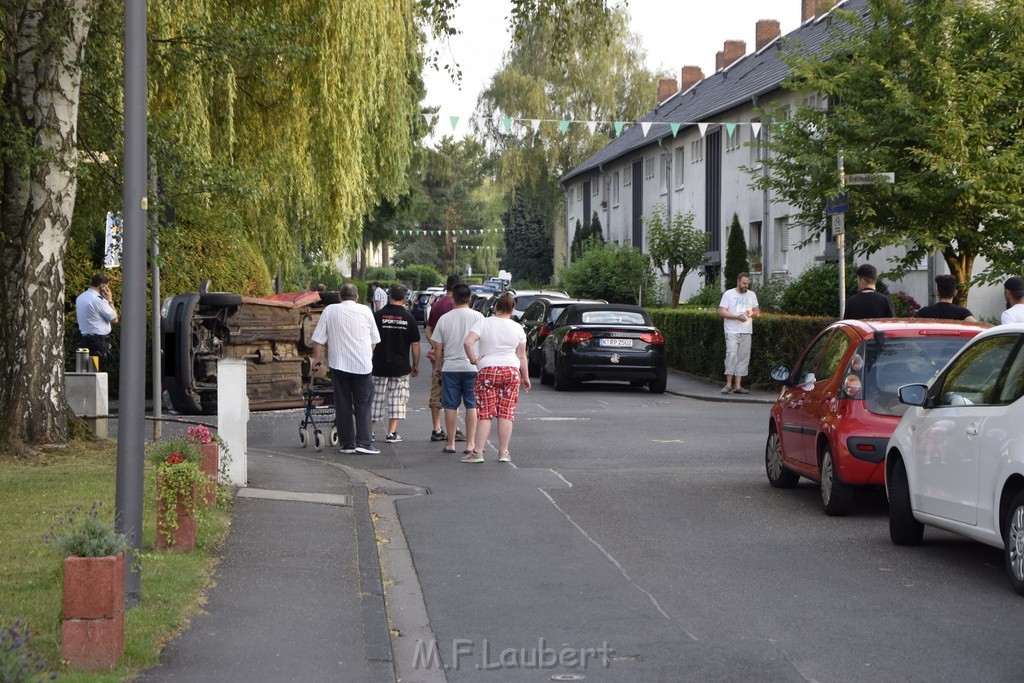
[[[654,270],[650,259],[632,247],[595,247],[561,270],[566,292],[610,303],[653,300]]]

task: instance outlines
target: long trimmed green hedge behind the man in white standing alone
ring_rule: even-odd
[[[697,377],[724,381],[725,333],[718,309],[649,309],[654,325],[665,335],[669,367]],[[776,389],[768,373],[773,366],[793,366],[797,356],[831,317],[766,313],[754,321],[751,368],[745,384]]]

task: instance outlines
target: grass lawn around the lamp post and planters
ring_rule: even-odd
[[[76,441],[67,452],[30,461],[0,455],[0,627],[16,620],[28,624],[30,649],[61,681],[123,681],[156,665],[164,644],[202,609],[217,550],[227,536],[230,515],[218,507],[201,520],[194,552],[156,552],[154,482],[146,465],[142,598],[125,614],[124,656],[115,671],[104,674],[66,668],[60,660],[63,558],[43,537],[77,506],[88,511],[101,501],[113,516],[116,473],[114,441]]]

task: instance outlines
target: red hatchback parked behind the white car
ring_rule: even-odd
[[[849,512],[853,486],[885,485],[886,443],[907,407],[904,384],[932,381],[978,323],[840,321],[807,347],[783,383],[768,422],[765,470],[776,488],[818,481],[827,515]]]

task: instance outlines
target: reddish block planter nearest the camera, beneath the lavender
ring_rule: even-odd
[[[60,656],[76,669],[113,669],[125,649],[125,555],[68,557]]]

